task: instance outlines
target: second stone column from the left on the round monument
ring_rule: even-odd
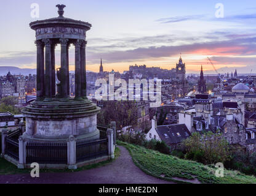
[[[52,100],[52,40],[43,39],[46,46],[46,74],[44,77],[46,88],[46,99],[44,101]]]

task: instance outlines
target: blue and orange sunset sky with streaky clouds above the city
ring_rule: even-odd
[[[39,5],[39,18],[31,17],[31,4]],[[223,18],[215,13],[223,5]],[[187,74],[256,74],[255,0],[1,0],[0,66],[36,68],[35,33],[29,23],[57,17],[57,4],[65,4],[64,17],[87,21],[87,70],[98,72],[100,58],[106,71],[123,72],[130,65],[172,69],[180,58]],[[60,67],[60,46],[56,48]],[[74,47],[70,47],[74,70]]]

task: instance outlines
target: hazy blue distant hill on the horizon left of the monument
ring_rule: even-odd
[[[36,74],[36,69],[21,69],[18,67],[12,67],[12,66],[0,66],[0,76],[6,75],[10,71],[10,74],[12,75],[28,75],[28,74]]]

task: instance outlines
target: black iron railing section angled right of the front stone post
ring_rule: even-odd
[[[93,139],[89,141],[76,141],[76,162],[108,155],[108,139]]]

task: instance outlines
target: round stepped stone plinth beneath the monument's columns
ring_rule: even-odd
[[[88,99],[69,99],[66,102],[58,99],[50,102],[36,100],[22,111],[26,115],[25,134],[27,137],[41,139],[64,139],[70,135],[97,137],[99,110]]]

